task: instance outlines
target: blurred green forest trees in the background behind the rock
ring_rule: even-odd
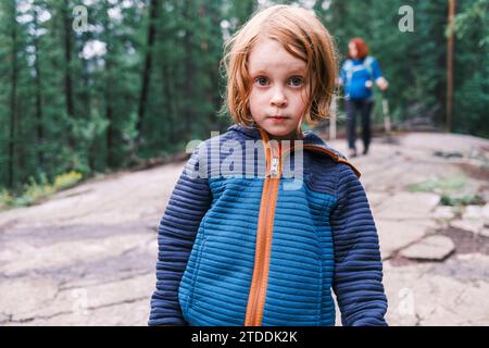
[[[447,1],[5,0],[0,1],[0,187],[20,191],[27,183],[32,196],[42,196],[42,185],[29,177],[45,173],[53,183],[71,171],[87,177],[224,132],[230,120],[217,116],[225,87],[218,69],[223,42],[268,3],[313,8],[334,35],[340,59],[350,38],[363,37],[390,83],[394,122],[427,116],[443,124]],[[85,32],[72,27],[79,4],[88,11]],[[489,136],[488,4],[457,1],[454,26],[454,132],[484,137]],[[402,5],[414,10],[413,33],[398,28]],[[378,94],[376,100],[379,122]]]

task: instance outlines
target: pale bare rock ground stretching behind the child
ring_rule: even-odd
[[[409,134],[352,162],[379,231],[391,325],[489,325],[489,141]],[[330,141],[346,153],[344,141]],[[156,226],[184,163],[0,213],[0,325],[146,325]],[[443,206],[465,200],[463,208]]]

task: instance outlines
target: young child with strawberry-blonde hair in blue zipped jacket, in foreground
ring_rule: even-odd
[[[331,289],[343,325],[386,325],[378,236],[360,173],[301,130],[302,120],[329,116],[333,38],[313,12],[274,5],[226,49],[235,124],[193,151],[172,192],[149,325],[330,326]],[[301,175],[286,175],[288,164]]]

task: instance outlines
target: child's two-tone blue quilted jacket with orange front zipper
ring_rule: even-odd
[[[277,150],[256,124],[233,125],[193,151],[160,222],[149,325],[330,326],[331,289],[343,325],[386,325],[378,236],[360,173],[314,133],[299,137],[303,146]],[[253,153],[226,163],[250,141]],[[285,167],[298,167],[299,149],[301,185],[290,189],[297,177]],[[220,175],[215,163],[251,164],[254,173]]]

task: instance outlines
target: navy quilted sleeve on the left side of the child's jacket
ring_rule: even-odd
[[[156,287],[151,296],[150,326],[187,325],[178,287],[200,222],[211,204],[209,182],[198,175],[198,153],[199,148],[187,161],[158,228]]]

